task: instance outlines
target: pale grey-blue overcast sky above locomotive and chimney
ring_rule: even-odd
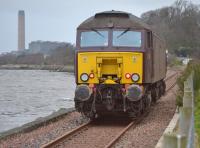
[[[17,50],[18,11],[25,11],[26,49],[31,41],[75,43],[76,28],[97,12],[119,10],[138,17],[175,0],[0,0],[0,53]],[[200,0],[191,0],[200,4]]]

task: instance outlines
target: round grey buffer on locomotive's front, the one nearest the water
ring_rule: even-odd
[[[75,90],[75,100],[87,101],[92,94],[91,89],[87,85],[78,85]]]

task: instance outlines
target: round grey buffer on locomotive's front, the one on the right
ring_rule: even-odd
[[[138,101],[142,98],[142,89],[138,85],[130,85],[126,91],[126,97],[130,101]]]

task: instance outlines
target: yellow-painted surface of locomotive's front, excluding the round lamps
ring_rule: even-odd
[[[132,84],[126,79],[126,73],[137,73],[140,76],[138,83],[143,83],[143,53],[142,52],[79,52],[78,53],[78,83],[99,83],[98,77],[117,75],[120,84]],[[94,73],[95,77],[83,82],[82,73]]]

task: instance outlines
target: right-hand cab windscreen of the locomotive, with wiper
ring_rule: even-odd
[[[113,46],[141,47],[141,42],[141,32],[128,29],[124,31],[113,31]]]

